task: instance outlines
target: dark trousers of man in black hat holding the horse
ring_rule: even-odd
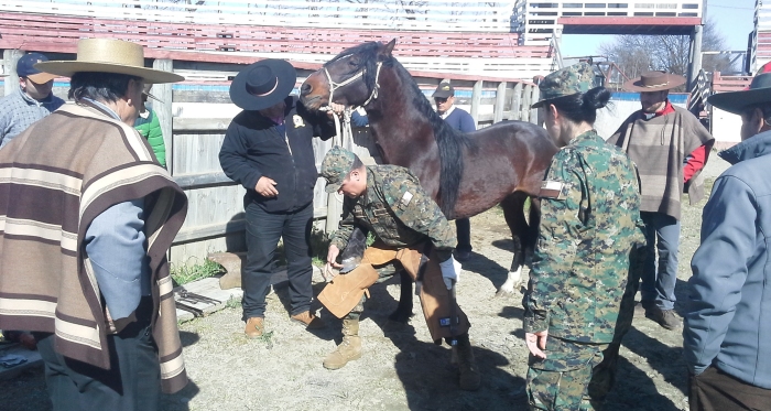
[[[291,213],[268,213],[258,204],[247,205],[247,267],[243,286],[243,321],[265,315],[265,295],[273,274],[272,261],[279,239],[284,239],[286,275],[292,315],[311,309],[311,227],[313,204]]]

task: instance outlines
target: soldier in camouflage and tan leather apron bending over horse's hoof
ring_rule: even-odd
[[[340,148],[329,150],[321,174],[327,181],[327,193],[338,192],[347,197],[340,227],[329,246],[325,274],[332,273],[332,268],[341,268],[336,260],[355,224],[367,227],[376,237],[361,264],[334,277],[318,295],[330,313],[344,318],[343,342],[324,359],[324,367],[338,369],[361,358],[358,332],[365,291],[382,277],[392,275],[395,271],[389,269],[395,266],[422,282],[421,305],[431,337],[434,342],[445,338],[457,347],[460,388],[477,390],[480,376],[468,339],[470,324],[454,299],[460,271],[460,264],[453,259],[455,229],[439,207],[408,169],[365,166],[356,154]],[[421,268],[422,261],[425,266]]]

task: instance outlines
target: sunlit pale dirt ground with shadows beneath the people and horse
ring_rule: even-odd
[[[714,156],[706,171],[708,188],[726,167]],[[682,313],[698,246],[705,201],[683,209],[680,274],[676,288]],[[431,342],[420,303],[406,326],[392,326],[398,281],[372,288],[360,335],[365,355],[329,371],[322,360],[339,342],[340,322],[326,311],[327,328],[310,333],[289,321],[286,289],[269,296],[267,323],[272,335],[243,337],[240,309],[226,309],[183,324],[182,340],[192,382],[164,396],[162,409],[175,410],[525,410],[528,349],[523,342],[522,295],[496,298],[506,280],[512,242],[499,209],[471,218],[474,257],[464,263],[457,298],[473,323],[475,355],[482,371],[477,392],[457,389],[449,349]],[[318,292],[323,283],[315,284]],[[606,410],[684,410],[686,371],[680,331],[669,332],[636,318],[623,340],[619,380]],[[51,404],[43,372],[29,371],[0,382],[0,410],[44,411]]]

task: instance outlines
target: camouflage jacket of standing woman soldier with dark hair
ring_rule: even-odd
[[[610,343],[629,253],[644,244],[634,163],[591,130],[554,154],[523,305],[524,331]]]

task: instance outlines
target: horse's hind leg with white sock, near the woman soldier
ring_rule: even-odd
[[[501,202],[506,224],[511,230],[511,239],[514,241],[514,256],[506,282],[496,293],[497,296],[512,295],[519,284],[524,264],[524,245],[529,239],[528,221],[524,218],[524,202],[526,195],[513,193]]]

